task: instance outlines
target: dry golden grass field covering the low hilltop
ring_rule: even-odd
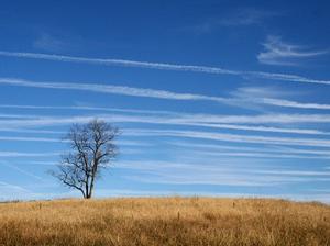
[[[212,198],[1,203],[0,245],[330,245],[330,206]]]

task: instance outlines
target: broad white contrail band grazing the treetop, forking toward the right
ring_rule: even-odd
[[[329,132],[315,128],[284,128],[274,126],[263,126],[257,124],[265,123],[328,123],[328,114],[265,114],[265,115],[215,115],[215,114],[160,114],[160,115],[127,115],[127,114],[96,114],[76,116],[37,116],[36,119],[24,120],[1,120],[0,131],[3,132],[25,132],[24,127],[67,125],[73,123],[87,123],[95,118],[102,119],[112,123],[145,123],[163,125],[185,125],[208,128],[228,128],[239,131],[309,134],[309,135],[330,135]],[[246,125],[246,124],[250,125]],[[26,133],[31,130],[26,130]],[[44,133],[43,130],[32,131],[31,133]],[[50,133],[63,133],[52,132]]]

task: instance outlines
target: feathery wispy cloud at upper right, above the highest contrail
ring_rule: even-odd
[[[296,66],[301,59],[312,58],[328,54],[329,51],[311,51],[301,45],[288,44],[279,36],[268,36],[263,44],[264,51],[257,55],[262,64]]]

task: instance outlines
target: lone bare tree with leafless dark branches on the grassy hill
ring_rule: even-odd
[[[118,148],[113,143],[119,130],[101,120],[87,124],[74,124],[65,139],[70,152],[62,156],[62,163],[52,175],[63,185],[79,190],[85,199],[92,195],[96,179],[101,169],[110,167]]]

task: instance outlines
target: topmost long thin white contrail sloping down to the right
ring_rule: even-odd
[[[272,74],[272,72],[264,72],[264,71],[230,70],[230,69],[223,69],[219,67],[208,67],[208,66],[175,65],[175,64],[148,63],[148,62],[136,62],[136,60],[127,60],[127,59],[86,58],[86,57],[75,57],[75,56],[61,56],[61,55],[50,55],[50,54],[40,54],[40,53],[19,53],[19,52],[4,52],[4,51],[2,52],[0,51],[0,56],[46,59],[46,60],[66,62],[66,63],[96,64],[96,65],[106,65],[106,66],[125,66],[125,67],[162,69],[162,70],[180,70],[180,71],[195,71],[195,72],[219,74],[219,75],[234,75],[244,78],[252,76],[252,77],[272,79],[272,80],[330,85],[330,80],[310,79],[297,75]]]

